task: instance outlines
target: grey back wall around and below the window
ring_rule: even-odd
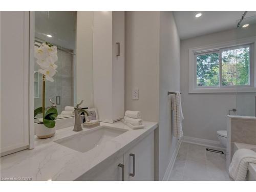
[[[212,33],[181,41],[181,101],[184,136],[218,140],[217,131],[226,130],[229,109],[236,108],[236,93],[188,94],[188,49],[234,40],[234,30]]]

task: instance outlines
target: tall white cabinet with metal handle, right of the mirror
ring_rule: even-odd
[[[99,120],[124,115],[124,11],[93,12],[93,106]]]

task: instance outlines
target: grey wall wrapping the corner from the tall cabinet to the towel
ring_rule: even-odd
[[[172,12],[125,12],[125,110],[159,122],[155,179],[162,180],[177,139],[171,131],[167,90],[180,89],[180,39]],[[139,88],[139,100],[132,89]]]

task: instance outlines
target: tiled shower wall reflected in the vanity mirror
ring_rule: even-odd
[[[74,105],[74,56],[68,52],[58,50],[58,61],[55,63],[57,73],[53,77],[54,82],[46,81],[46,106],[50,106],[49,98],[56,103],[56,96],[60,96],[60,104],[57,105],[58,114],[65,110],[65,106]],[[38,71],[39,66],[35,63],[35,71]],[[36,76],[37,74],[35,74]],[[39,74],[38,85],[35,82],[35,87],[39,87],[39,97],[35,93],[35,109],[41,106],[42,95],[42,75]],[[36,90],[36,88],[35,88]]]

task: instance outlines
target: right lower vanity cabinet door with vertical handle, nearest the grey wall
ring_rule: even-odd
[[[125,181],[154,181],[154,132],[124,154]]]

